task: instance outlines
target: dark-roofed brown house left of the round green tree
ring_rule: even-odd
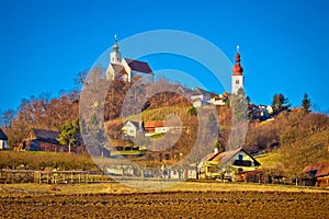
[[[64,152],[67,147],[58,142],[59,131],[33,128],[23,142],[23,150]]]

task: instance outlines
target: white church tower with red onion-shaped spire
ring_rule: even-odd
[[[241,59],[239,54],[239,45],[237,46],[237,55],[235,66],[232,68],[232,76],[231,76],[231,93],[237,94],[239,89],[243,89],[243,68],[241,67]]]

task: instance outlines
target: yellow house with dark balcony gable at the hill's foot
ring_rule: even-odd
[[[248,172],[256,171],[260,163],[242,147],[222,153],[214,150],[198,164],[200,178],[226,178],[229,181],[247,181]]]

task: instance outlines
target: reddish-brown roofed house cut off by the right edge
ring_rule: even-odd
[[[313,180],[313,185],[329,187],[329,161],[309,164],[303,170],[303,173]]]

